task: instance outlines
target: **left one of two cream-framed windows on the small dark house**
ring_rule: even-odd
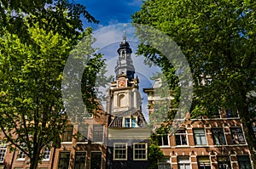
[[[113,160],[127,160],[127,144],[113,144]]]

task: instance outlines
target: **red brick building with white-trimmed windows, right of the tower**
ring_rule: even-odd
[[[155,93],[160,82],[144,88],[148,94],[149,115],[152,103],[160,100]],[[174,133],[160,134],[158,145],[164,157],[158,161],[160,169],[250,169],[252,161],[243,127],[235,110],[216,110],[211,118],[186,120]]]

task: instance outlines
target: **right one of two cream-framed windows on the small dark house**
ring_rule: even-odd
[[[133,144],[133,160],[134,161],[147,161],[148,159],[148,146],[146,143]]]

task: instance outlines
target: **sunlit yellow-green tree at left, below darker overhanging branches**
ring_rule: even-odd
[[[34,45],[22,43],[7,30],[1,37],[0,126],[12,146],[38,161],[33,155],[58,143],[56,135],[67,122],[59,114],[60,85],[70,40],[38,25],[28,31]]]

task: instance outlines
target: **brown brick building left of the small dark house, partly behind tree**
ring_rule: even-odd
[[[104,169],[107,135],[108,115],[91,115],[81,123],[72,123],[61,136],[60,148],[44,149],[44,160],[38,169]],[[6,169],[29,168],[26,155],[18,150],[10,153],[5,144],[0,146],[0,162],[0,167]]]

